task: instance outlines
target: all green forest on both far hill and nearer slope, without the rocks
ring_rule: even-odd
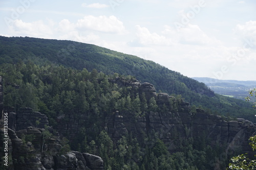
[[[127,132],[111,138],[105,131],[113,114],[132,114],[147,119],[151,112],[177,116],[181,103],[189,102],[189,116],[196,109],[205,114],[224,115],[228,120],[243,117],[255,122],[255,111],[248,102],[214,94],[205,84],[182,76],[153,61],[140,59],[92,44],[29,37],[0,37],[0,76],[4,80],[4,107],[17,112],[24,107],[46,114],[57,131],[79,120],[77,135],[61,131],[72,150],[99,155],[110,169],[214,169],[225,168],[229,157],[216,160],[225,145],[212,145],[205,132],[185,138],[174,128],[175,152],[160,139],[160,132],[146,131],[138,136]],[[124,82],[149,82],[157,92],[172,95],[168,105],[147,99],[138,88]],[[84,117],[87,121],[84,121]],[[61,119],[61,121],[58,121]],[[40,124],[40,120],[37,120]],[[234,155],[236,153],[233,153]]]

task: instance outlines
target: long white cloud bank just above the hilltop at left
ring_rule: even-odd
[[[54,22],[47,19],[45,23],[42,20],[34,22],[25,22],[20,19],[13,21],[9,27],[11,36],[30,36],[49,39],[68,39],[85,43],[99,43],[100,36],[105,37],[109,34],[127,33],[123,23],[115,16],[84,16],[76,22],[69,19],[62,19]],[[111,36],[111,35],[109,35]]]

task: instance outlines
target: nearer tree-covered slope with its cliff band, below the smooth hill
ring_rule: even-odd
[[[32,62],[3,64],[0,75],[10,128],[27,132],[28,126],[41,128],[49,120],[54,134],[68,138],[72,150],[100,156],[108,170],[225,169],[255,128],[248,120],[190,108],[178,96],[157,94],[152,84],[141,84],[132,76]],[[47,155],[41,154],[41,160],[51,156],[51,144],[44,147]],[[60,154],[52,160],[63,157]],[[26,167],[29,158],[35,160],[26,152],[13,156],[15,169]]]

